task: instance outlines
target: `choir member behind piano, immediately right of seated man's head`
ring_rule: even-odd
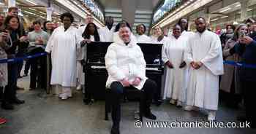
[[[151,38],[149,36],[145,35],[146,32],[146,26],[143,24],[136,26],[136,33],[138,34],[136,36],[138,43],[151,43]]]

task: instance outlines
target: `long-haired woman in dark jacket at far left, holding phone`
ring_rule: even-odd
[[[15,58],[15,52],[17,47],[21,45],[21,42],[28,42],[27,36],[19,36],[19,19],[15,16],[7,16],[4,20],[4,36],[6,39],[7,49],[5,52],[7,53],[7,58]],[[18,63],[8,63],[8,83],[7,86],[4,87],[4,98],[1,103],[1,107],[3,109],[14,109],[12,106],[15,104],[22,104],[25,101],[20,100],[16,96],[17,90],[17,79],[18,79]]]

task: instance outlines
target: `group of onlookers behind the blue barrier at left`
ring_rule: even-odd
[[[53,32],[52,23],[42,23],[35,20],[31,27],[25,31],[23,20],[18,16],[18,8],[10,7],[7,15],[0,13],[0,53],[1,59],[23,58],[26,55],[33,55],[38,52],[45,52],[45,46],[50,33]],[[30,90],[36,87],[45,87],[45,59],[46,56],[26,59],[24,76],[31,69]],[[23,60],[15,60],[10,63],[0,64],[0,100],[2,109],[14,109],[14,104],[23,104],[25,101],[17,98],[17,90],[24,90],[18,87],[18,78],[21,78]],[[40,71],[39,71],[40,69]],[[38,73],[40,72],[40,73]],[[0,124],[6,122],[0,118]]]

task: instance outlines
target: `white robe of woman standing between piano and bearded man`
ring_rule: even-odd
[[[187,47],[186,36],[180,36],[176,39],[173,35],[169,41],[162,47],[162,61],[170,61],[173,68],[165,67],[165,90],[163,99],[172,98],[181,102],[185,101],[187,91],[187,66],[179,68],[184,62],[184,51]],[[164,79],[163,79],[164,80]]]

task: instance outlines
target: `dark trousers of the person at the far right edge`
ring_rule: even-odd
[[[255,109],[255,82],[242,80],[242,90],[244,91],[244,105],[246,112],[246,119],[251,122],[251,125],[256,127],[256,109]]]

